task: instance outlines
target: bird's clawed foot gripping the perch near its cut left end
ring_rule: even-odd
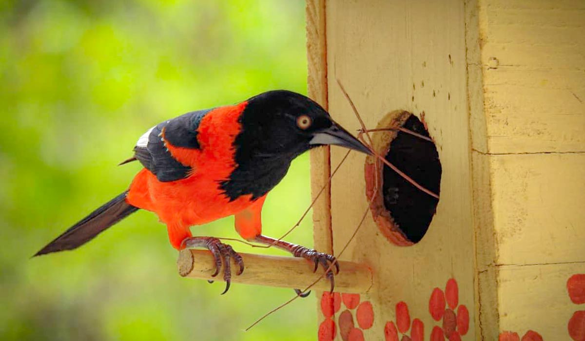
[[[181,243],[182,249],[194,249],[195,247],[204,247],[213,254],[215,259],[215,273],[212,274],[212,277],[219,274],[219,270],[221,270],[223,263],[223,280],[225,280],[226,286],[222,295],[228,292],[229,284],[232,279],[232,266],[230,259],[233,258],[236,264],[240,267],[238,273],[236,273],[236,275],[240,275],[244,272],[244,261],[242,260],[242,256],[235,252],[231,246],[220,242],[219,239],[214,237],[188,237]]]

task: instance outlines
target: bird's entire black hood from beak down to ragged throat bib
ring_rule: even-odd
[[[287,173],[292,159],[324,144],[370,154],[311,99],[291,91],[264,92],[247,100],[236,137],[236,169],[222,188],[231,198],[261,197]]]

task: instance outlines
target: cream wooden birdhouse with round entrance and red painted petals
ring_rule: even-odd
[[[315,249],[341,266],[318,339],[585,340],[585,2],[308,0],[307,49],[309,97],[357,134],[345,89],[377,152],[439,195],[311,151]],[[247,283],[316,276],[247,257]]]

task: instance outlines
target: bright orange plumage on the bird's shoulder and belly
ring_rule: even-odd
[[[200,149],[167,144],[177,161],[192,168],[191,173],[181,180],[161,182],[144,168],[130,185],[129,204],[156,212],[162,222],[177,227],[215,221],[250,206],[252,195],[230,201],[219,188],[237,166],[233,142],[242,129],[239,118],[246,104],[222,106],[205,115],[198,127]]]

